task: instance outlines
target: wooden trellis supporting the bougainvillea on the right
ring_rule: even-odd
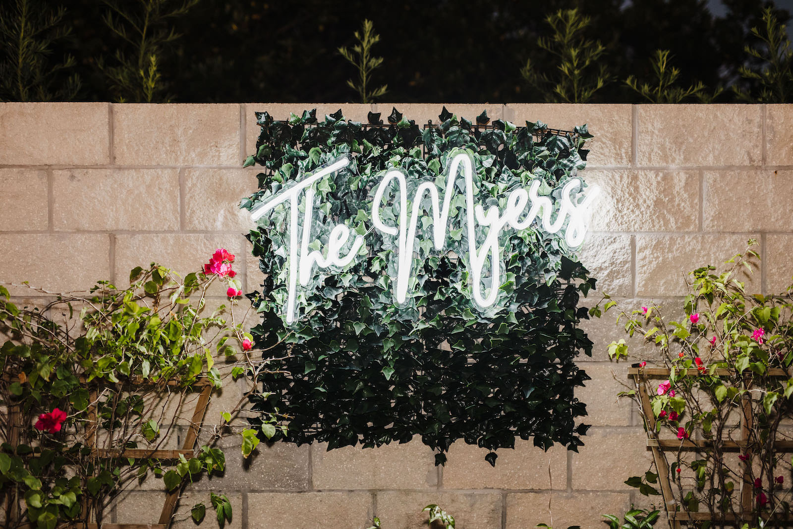
[[[699,371],[692,368],[687,370],[688,375],[695,376]],[[642,415],[644,416],[646,431],[647,431],[647,447],[653,451],[653,461],[655,462],[656,470],[658,471],[658,480],[661,483],[661,495],[664,499],[664,507],[669,517],[669,522],[672,524],[673,529],[680,529],[681,523],[691,521],[711,521],[711,522],[734,522],[738,518],[733,512],[682,512],[678,510],[679,503],[672,493],[672,485],[669,482],[669,468],[664,457],[664,451],[670,450],[703,450],[707,449],[710,441],[707,439],[687,439],[680,441],[677,439],[658,439],[658,432],[656,431],[656,417],[653,415],[653,408],[650,404],[649,395],[647,394],[647,386],[645,384],[648,378],[669,378],[669,370],[665,367],[631,367],[628,374],[634,378],[636,391],[638,397],[642,401]],[[715,370],[714,375],[718,377],[725,377],[734,375],[733,371],[726,369]],[[774,368],[768,370],[768,376],[789,378],[787,370]],[[740,452],[741,455],[745,454],[747,440],[749,439],[749,431],[752,428],[751,420],[751,401],[748,397],[744,397],[741,406],[741,430],[740,439],[723,440],[722,449],[725,451]],[[793,441],[776,441],[774,443],[776,450],[780,452],[793,452]],[[749,513],[753,511],[753,483],[751,482],[752,463],[749,460],[741,460],[741,473],[743,479],[741,480],[741,505],[740,512]],[[760,516],[763,516],[762,514]],[[765,517],[765,516],[763,516]],[[779,519],[777,516],[776,519]]]

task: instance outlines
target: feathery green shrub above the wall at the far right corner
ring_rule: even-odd
[[[752,28],[752,34],[760,40],[759,47],[747,45],[744,51],[749,57],[760,59],[760,69],[741,66],[741,77],[759,82],[756,93],[735,87],[737,96],[745,101],[758,103],[787,103],[793,96],[793,52],[787,38],[785,26],[780,24],[772,8],[763,11],[763,26]]]

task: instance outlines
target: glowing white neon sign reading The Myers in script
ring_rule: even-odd
[[[392,278],[392,289],[398,304],[403,304],[408,297],[408,282],[411,278],[419,217],[427,212],[427,209],[430,210],[435,250],[444,250],[450,207],[460,176],[465,188],[465,229],[468,240],[467,248],[464,247],[462,250],[467,251],[471,295],[476,305],[481,308],[493,305],[499,296],[499,286],[503,280],[500,264],[502,248],[499,237],[505,228],[523,230],[537,220],[537,228],[547,233],[554,234],[564,230],[564,240],[569,247],[578,247],[584,242],[588,209],[600,190],[590,188],[586,196],[581,198],[579,195],[583,190],[582,181],[580,178],[571,178],[562,186],[558,194],[560,198],[554,203],[551,197],[538,193],[543,183],[542,179],[533,178],[528,189],[519,187],[508,194],[503,211],[497,205],[490,205],[485,210],[481,204],[474,201],[473,163],[473,156],[468,152],[463,151],[454,155],[446,171],[442,203],[438,186],[434,182],[423,181],[413,190],[412,208],[408,205],[408,185],[404,171],[394,168],[385,171],[381,176],[381,181],[374,190],[371,219],[374,228],[381,233],[381,236],[397,238],[397,278],[396,281]],[[309,234],[316,198],[313,185],[321,178],[328,178],[349,164],[350,158],[343,156],[319,167],[312,174],[306,175],[293,186],[270,197],[268,201],[251,211],[251,219],[257,221],[276,206],[288,202],[289,248],[285,249],[289,256],[286,263],[288,296],[284,307],[287,324],[292,323],[297,316],[295,307],[297,282],[300,282],[301,286],[307,286],[314,266],[343,269],[353,263],[358,255],[367,253],[364,237],[357,235],[351,240],[351,231],[346,224],[336,224],[331,230],[328,241],[324,243],[324,254],[321,248],[309,251]],[[397,182],[397,190],[392,189],[392,182]],[[399,216],[396,225],[385,224],[381,217],[383,200],[389,191],[399,195]],[[425,200],[426,196],[429,198],[428,204]],[[304,206],[303,213],[301,213],[301,205]],[[528,211],[526,211],[527,206],[529,206]],[[477,244],[477,239],[481,240],[481,243]],[[483,279],[487,279],[483,278],[486,265],[489,265],[489,282],[483,288]]]

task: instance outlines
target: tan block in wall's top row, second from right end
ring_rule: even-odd
[[[760,105],[638,105],[639,166],[757,165]]]

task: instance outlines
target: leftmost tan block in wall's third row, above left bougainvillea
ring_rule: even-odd
[[[0,278],[56,293],[86,290],[109,279],[109,246],[109,236],[101,233],[3,235],[0,251],[6,259],[0,262]],[[42,294],[21,286],[9,290],[18,296]]]

